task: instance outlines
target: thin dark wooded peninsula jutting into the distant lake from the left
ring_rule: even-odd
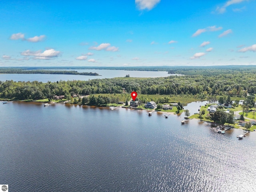
[[[0,73],[7,74],[66,74],[66,75],[90,75],[98,76],[98,73],[92,72],[77,72],[77,71],[60,71],[60,70],[20,70],[16,68],[0,69]]]

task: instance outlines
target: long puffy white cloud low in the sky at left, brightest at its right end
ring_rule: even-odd
[[[42,52],[42,50],[38,51],[30,51],[26,50],[21,53],[23,56],[34,56],[34,59],[43,59],[43,60],[49,60],[54,57],[58,57],[60,55],[60,51],[56,51],[54,49],[48,49]]]

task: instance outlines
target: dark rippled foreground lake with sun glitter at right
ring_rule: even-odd
[[[256,191],[256,133],[238,140],[243,130],[222,135],[198,120],[146,113],[1,103],[0,184],[12,192]]]

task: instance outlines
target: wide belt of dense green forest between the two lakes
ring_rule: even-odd
[[[205,74],[210,74],[205,70]],[[246,97],[256,94],[256,72],[234,70],[232,73],[218,70],[214,75],[168,76],[165,78],[112,78],[88,81],[14,82],[0,81],[0,98],[42,99],[54,95],[72,96],[105,93],[159,94],[190,96],[206,99],[210,96]]]

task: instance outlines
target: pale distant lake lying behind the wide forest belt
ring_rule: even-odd
[[[0,74],[0,81],[39,81],[39,82],[56,82],[59,80],[89,80],[104,79],[114,77],[167,77],[170,76],[166,71],[125,71],[125,70],[75,70],[77,72],[96,72],[101,76],[88,75],[62,75],[62,74]]]

